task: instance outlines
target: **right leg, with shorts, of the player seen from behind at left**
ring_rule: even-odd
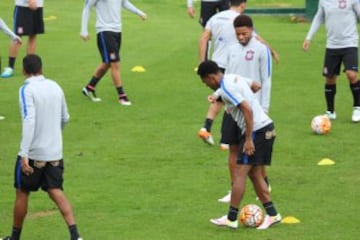
[[[62,190],[63,171],[63,160],[48,162],[44,170],[42,188],[47,191],[51,200],[54,201],[60,210],[60,213],[69,228],[71,240],[78,240],[80,239],[80,234],[77,230],[73,210]]]

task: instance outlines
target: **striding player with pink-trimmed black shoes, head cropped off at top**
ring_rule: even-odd
[[[125,8],[129,10],[140,16],[142,20],[145,20],[147,16],[128,0],[87,0],[85,1],[82,12],[80,33],[80,37],[84,41],[89,40],[87,27],[91,7],[95,7],[96,9],[97,45],[102,63],[96,68],[94,75],[91,77],[89,83],[82,89],[82,92],[93,102],[101,101],[101,98],[96,97],[95,88],[101,78],[110,69],[119,103],[129,106],[131,102],[125,93],[120,77],[121,9]]]

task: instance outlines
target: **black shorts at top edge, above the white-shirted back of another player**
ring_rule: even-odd
[[[205,27],[207,21],[217,12],[221,12],[230,8],[229,0],[221,0],[218,2],[201,1],[199,23]]]

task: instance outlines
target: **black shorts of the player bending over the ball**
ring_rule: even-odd
[[[253,166],[271,165],[271,155],[275,141],[274,124],[270,123],[269,125],[253,132],[253,141],[255,145],[254,154],[248,156],[242,151],[239,151],[237,163]],[[240,150],[243,149],[244,143],[245,136],[242,136],[240,140]]]

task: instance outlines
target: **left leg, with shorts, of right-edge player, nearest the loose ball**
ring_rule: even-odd
[[[326,49],[323,76],[325,77],[325,100],[326,114],[331,120],[336,119],[335,95],[336,95],[336,77],[340,74],[342,56],[336,49]]]

